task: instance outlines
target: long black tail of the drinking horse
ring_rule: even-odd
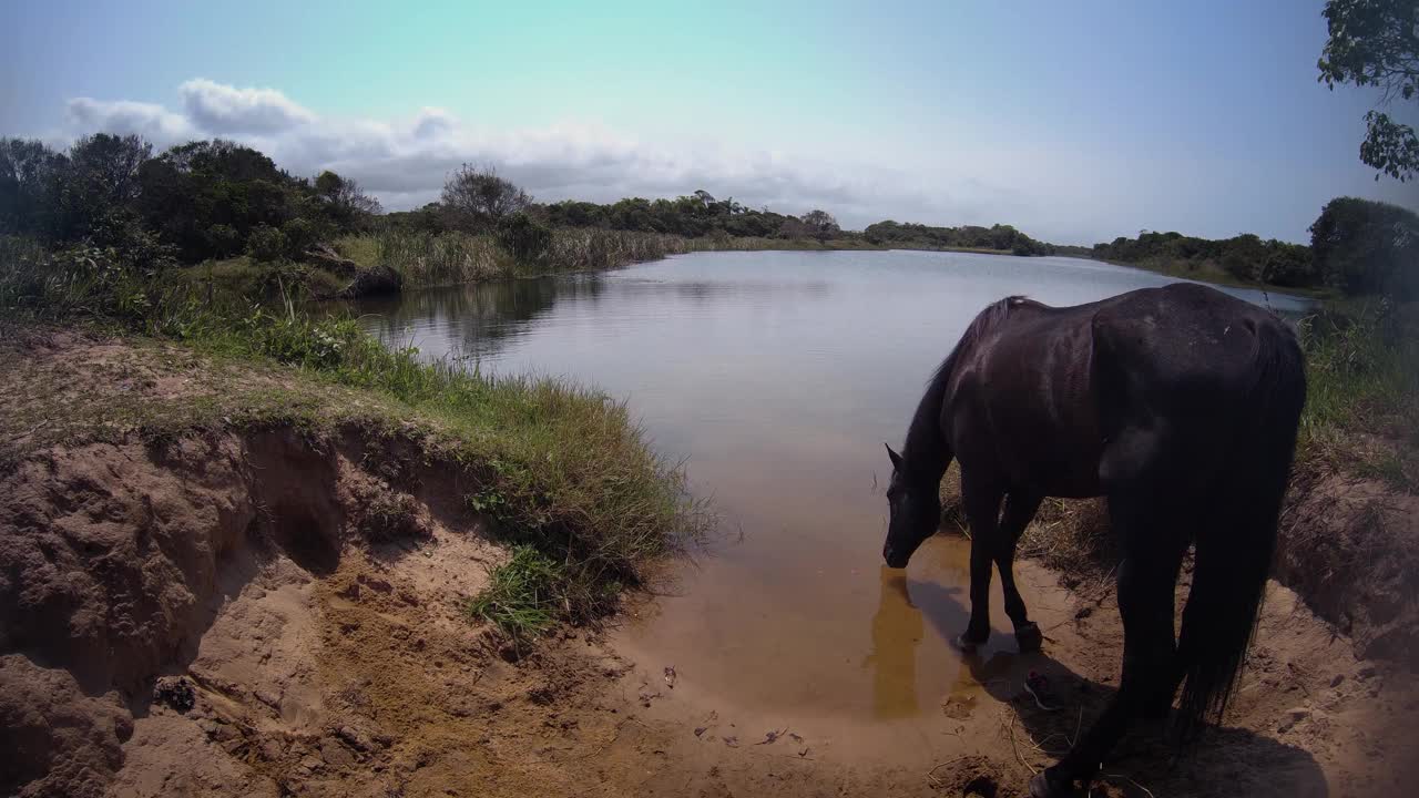
[[[1218,474],[1213,523],[1196,534],[1178,647],[1185,683],[1175,731],[1183,744],[1209,718],[1220,721],[1242,673],[1305,402],[1304,361],[1291,331],[1260,324],[1256,337],[1253,382],[1239,398],[1236,443]]]

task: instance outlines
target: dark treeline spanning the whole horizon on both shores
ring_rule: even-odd
[[[1310,247],[1252,234],[1209,240],[1141,233],[1086,250],[1039,241],[1009,224],[878,222],[858,233],[843,230],[822,209],[792,216],[748,207],[732,197],[715,199],[704,190],[607,204],[538,203],[491,168],[467,165],[448,176],[438,202],[383,213],[355,180],[329,170],[311,179],[292,176],[260,151],[230,141],[189,142],[155,155],[150,143],[132,135],[84,136],[64,152],[38,141],[0,139],[0,234],[55,250],[82,246],[119,266],[149,271],[166,263],[238,254],[258,263],[299,261],[321,241],[376,231],[485,236],[515,261],[549,263],[561,257],[558,241],[572,240],[555,234],[559,230],[691,240],[671,243],[670,251],[748,243],[775,247],[783,241],[1074,254],[1203,280],[1419,295],[1419,217],[1352,197],[1325,206],[1311,226]],[[701,243],[692,243],[697,240]],[[622,239],[612,243],[616,251],[643,248]],[[576,260],[582,261],[602,263]]]

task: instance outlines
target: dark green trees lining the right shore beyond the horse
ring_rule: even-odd
[[[1220,271],[1243,283],[1284,288],[1335,288],[1345,294],[1419,297],[1419,216],[1399,206],[1357,197],[1325,204],[1310,227],[1311,246],[1253,234],[1198,239],[1139,233],[1094,244],[1100,260],[1169,273]]]

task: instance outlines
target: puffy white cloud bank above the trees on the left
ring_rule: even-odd
[[[275,89],[237,88],[209,80],[179,87],[182,111],[142,102],[70,102],[72,133],[135,132],[158,146],[223,136],[255,146],[295,175],[333,169],[355,177],[389,209],[438,197],[461,163],[491,163],[541,200],[610,202],[626,196],[675,196],[707,189],[741,203],[785,213],[826,207],[847,224],[887,214],[929,214],[942,203],[907,172],[816,162],[771,151],[738,151],[698,142],[650,145],[592,124],[498,129],[467,124],[441,108],[412,119],[331,119]],[[986,192],[989,193],[989,192]],[[946,203],[962,220],[964,203]],[[975,222],[978,213],[968,213]],[[928,216],[929,217],[929,216]]]

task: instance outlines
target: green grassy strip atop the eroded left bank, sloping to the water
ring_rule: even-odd
[[[95,392],[58,399],[34,375],[24,396],[4,400],[9,463],[55,443],[230,426],[319,433],[353,425],[414,442],[427,461],[471,474],[480,487],[461,497],[467,508],[545,565],[535,591],[508,591],[495,576],[495,609],[477,611],[517,633],[609,612],[650,561],[707,528],[680,469],[656,456],[624,405],[595,389],[490,378],[389,351],[353,321],[308,318],[289,297],[265,293],[268,274],[250,264],[228,263],[221,281],[204,281],[33,248],[0,254],[11,256],[0,270],[0,334],[14,344],[6,368],[24,368],[30,338],[84,329],[176,352],[162,355],[177,364],[175,379],[211,383],[192,398],[128,403]]]

